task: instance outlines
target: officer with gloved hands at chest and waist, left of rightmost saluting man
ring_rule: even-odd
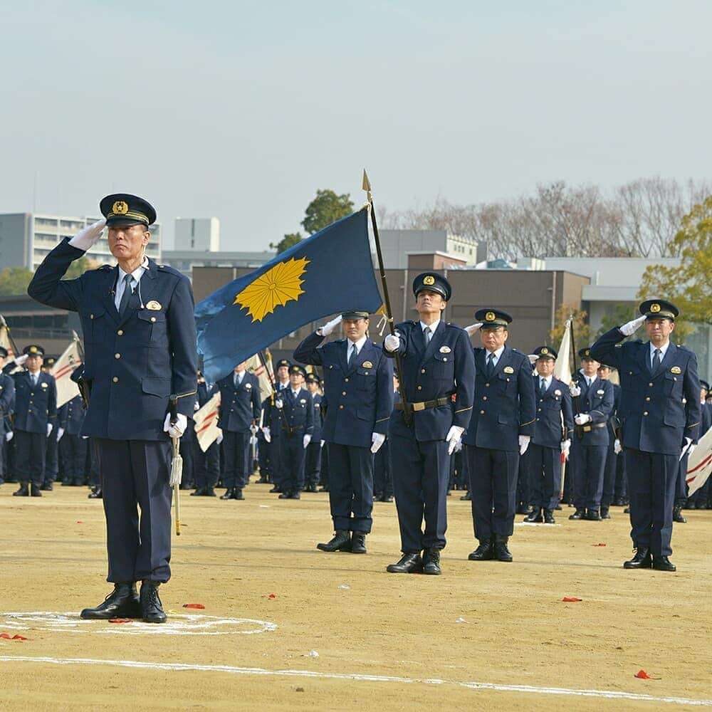
[[[600,521],[603,474],[608,455],[608,421],[613,413],[613,384],[598,377],[600,362],[590,348],[579,351],[581,370],[570,387],[574,402],[575,512],[569,519]]]

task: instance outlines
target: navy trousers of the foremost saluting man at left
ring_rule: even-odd
[[[107,580],[169,580],[171,443],[105,438],[96,443],[106,515]]]

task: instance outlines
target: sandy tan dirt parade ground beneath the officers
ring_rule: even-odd
[[[157,632],[78,621],[110,591],[100,501],[15,488],[0,487],[0,634],[27,640],[0,639],[4,711],[712,706],[712,511],[676,525],[674,574],[622,568],[621,508],[602,523],[570,522],[565,508],[555,526],[515,527],[513,563],[468,562],[470,508],[456,492],[443,575],[431,577],[386,573],[399,558],[393,504],[375,506],[367,555],[326,554],[315,549],[332,531],[323,493],[184,492],[161,589],[171,632]],[[36,616],[8,615],[22,612]],[[56,613],[67,615],[52,624]],[[204,621],[215,627],[194,627]],[[641,669],[659,679],[637,679]]]

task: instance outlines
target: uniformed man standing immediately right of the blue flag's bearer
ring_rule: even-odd
[[[535,396],[528,356],[506,345],[512,318],[480,309],[482,347],[474,349],[475,399],[463,438],[470,475],[472,520],[479,545],[471,561],[511,561],[519,459],[534,432]]]

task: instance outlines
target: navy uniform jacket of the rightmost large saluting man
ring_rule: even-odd
[[[686,437],[697,441],[700,382],[697,357],[670,342],[656,373],[650,372],[650,342],[629,341],[617,328],[600,337],[591,355],[617,367],[621,379],[623,446],[665,455],[680,453]]]

